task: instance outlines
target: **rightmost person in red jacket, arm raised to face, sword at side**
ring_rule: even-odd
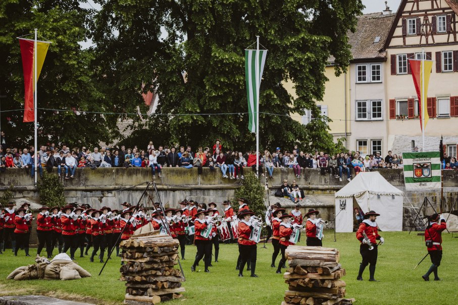
[[[434,272],[434,280],[440,281],[439,276],[437,275],[437,268],[440,266],[440,261],[442,260],[442,231],[447,228],[447,223],[443,215],[435,213],[429,217],[429,225],[425,229],[425,240],[428,245],[428,254],[431,258],[431,267],[429,267],[428,272],[422,275],[422,278],[425,281],[429,281],[429,275],[431,272]]]

